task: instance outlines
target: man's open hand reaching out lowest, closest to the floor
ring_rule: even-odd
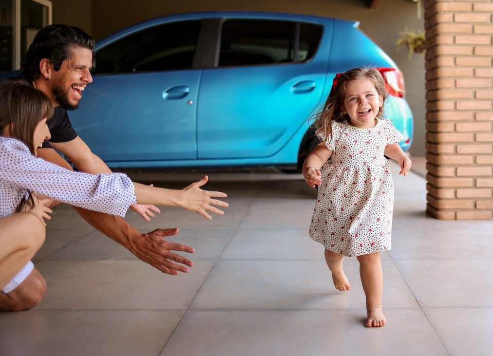
[[[192,267],[194,264],[188,258],[173,253],[171,251],[183,251],[194,253],[192,247],[181,245],[180,243],[168,242],[166,236],[173,236],[178,233],[178,228],[156,229],[147,234],[140,234],[129,239],[128,250],[143,260],[145,263],[157,268],[163,273],[177,275],[178,271],[188,272],[188,268],[174,262]]]

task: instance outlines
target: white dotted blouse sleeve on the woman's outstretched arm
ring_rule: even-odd
[[[122,217],[137,202],[134,183],[126,175],[72,172],[34,157],[15,139],[4,139],[0,145],[0,180],[17,189]]]

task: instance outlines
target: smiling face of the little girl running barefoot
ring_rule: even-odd
[[[342,105],[347,112],[350,124],[355,127],[370,128],[375,126],[375,117],[383,105],[383,98],[367,78],[360,78],[346,83],[346,97]]]

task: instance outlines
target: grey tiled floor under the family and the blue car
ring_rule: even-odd
[[[301,176],[218,173],[206,188],[229,194],[224,217],[165,208],[146,223],[128,214],[141,231],[180,228],[172,240],[196,253],[179,276],[57,208],[35,256],[48,292],[32,310],[0,313],[0,354],[491,355],[493,221],[427,217],[416,172],[394,174],[384,328],[363,326],[355,258],[345,262],[351,291],[334,289],[323,248],[307,234],[316,192]],[[178,188],[200,173],[134,177]]]

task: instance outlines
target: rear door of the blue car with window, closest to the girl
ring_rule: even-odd
[[[307,125],[321,98],[328,58],[316,52],[323,26],[225,16],[218,32],[215,67],[204,69],[201,81],[198,157],[272,156]]]

